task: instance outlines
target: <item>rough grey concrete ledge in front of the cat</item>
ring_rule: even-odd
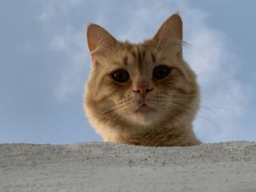
[[[0,191],[256,191],[256,142],[2,144]]]

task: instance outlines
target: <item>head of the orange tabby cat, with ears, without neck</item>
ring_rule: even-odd
[[[93,67],[85,108],[91,122],[148,127],[194,118],[198,86],[182,58],[181,19],[172,17],[152,39],[138,45],[118,42],[100,26],[89,26]]]

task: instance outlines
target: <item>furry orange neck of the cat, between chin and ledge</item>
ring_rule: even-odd
[[[113,128],[111,128],[113,129]],[[118,142],[129,145],[143,146],[191,146],[199,145],[201,142],[196,139],[192,131],[192,125],[172,126],[166,123],[164,126],[152,127],[148,130],[124,131],[126,128],[119,128],[116,131],[102,134],[105,142]]]

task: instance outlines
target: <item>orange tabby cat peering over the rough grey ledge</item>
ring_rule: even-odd
[[[200,145],[192,130],[200,89],[183,59],[182,39],[178,13],[139,44],[120,42],[101,26],[89,24],[92,69],[83,105],[105,142]]]

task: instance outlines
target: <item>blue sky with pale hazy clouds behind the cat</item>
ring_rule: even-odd
[[[97,23],[141,42],[179,11],[184,57],[198,75],[203,142],[256,140],[256,2],[1,1],[0,143],[100,141],[83,114],[91,69],[84,37]]]

